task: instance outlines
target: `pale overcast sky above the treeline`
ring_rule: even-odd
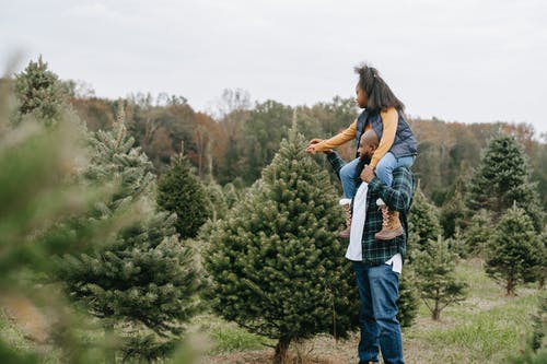
[[[353,96],[376,67],[411,116],[547,131],[544,0],[0,0],[0,70],[42,54],[97,96],[224,89],[290,105]],[[348,120],[349,122],[350,120]]]

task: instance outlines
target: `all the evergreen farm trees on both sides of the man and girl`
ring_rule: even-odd
[[[0,291],[49,313],[63,361],[190,361],[181,340],[200,310],[275,339],[276,363],[293,341],[357,330],[338,190],[322,156],[304,152],[296,116],[261,176],[236,189],[197,178],[184,152],[158,178],[127,130],[124,101],[112,129],[89,131],[42,58],[2,87]],[[501,134],[443,209],[418,188],[404,327],[418,300],[433,319],[465,300],[459,258],[485,259],[508,295],[543,287],[546,218],[529,174],[522,146]],[[39,361],[2,342],[0,360]]]

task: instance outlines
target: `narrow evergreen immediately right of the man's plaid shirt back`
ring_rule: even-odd
[[[428,240],[435,240],[441,234],[439,223],[439,211],[430,203],[421,191],[420,186],[416,189],[412,207],[408,214],[409,224],[409,249],[424,249]]]

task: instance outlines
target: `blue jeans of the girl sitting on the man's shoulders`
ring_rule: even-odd
[[[375,174],[384,184],[392,186],[393,169],[397,167],[411,167],[414,160],[414,155],[396,157],[393,153],[387,152],[382,160],[379,161]],[[344,197],[348,199],[352,199],[357,192],[356,185],[359,181],[359,175],[357,174],[358,164],[359,158],[357,157],[340,169]]]

